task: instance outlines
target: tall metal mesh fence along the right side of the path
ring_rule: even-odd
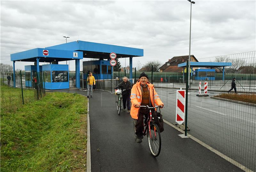
[[[222,57],[226,58],[226,61]],[[218,60],[219,59],[219,60]],[[255,51],[226,56],[199,59],[200,62],[231,62],[223,72],[215,69],[215,79],[190,80],[188,88],[188,136],[193,136],[224,154],[229,161],[242,169],[256,170],[256,57]],[[176,74],[176,75],[175,75]],[[138,74],[139,75],[139,74]],[[183,74],[154,72],[153,84],[164,102],[163,118],[175,125],[176,90],[186,89],[186,78]],[[148,72],[151,82],[151,72]],[[168,76],[168,77],[167,77]],[[178,80],[177,80],[178,76]],[[175,79],[174,79],[175,78]],[[182,78],[182,81],[181,79]],[[232,79],[236,78],[236,93],[231,89]],[[167,79],[167,80],[166,80]],[[169,81],[170,79],[170,81]],[[179,80],[180,79],[180,80]],[[199,97],[199,82],[201,94],[204,94],[204,82],[207,82],[208,96]],[[231,99],[231,100],[230,100]],[[233,101],[234,100],[234,101]],[[248,103],[244,103],[244,101]],[[177,125],[179,126],[179,125]]]

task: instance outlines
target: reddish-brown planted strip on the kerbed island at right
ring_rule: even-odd
[[[236,100],[236,101],[244,101],[247,103],[256,104],[256,94],[231,94],[231,93],[222,93],[220,95],[216,95],[214,97],[220,97],[224,99]]]

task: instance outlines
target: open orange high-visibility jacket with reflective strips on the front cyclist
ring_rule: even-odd
[[[148,84],[148,88],[149,88],[149,95],[150,95],[150,100],[152,103],[152,106],[155,107],[156,105],[161,105],[164,104],[159,96],[156,93],[156,90],[154,88],[153,84],[150,84],[149,82]],[[154,94],[154,97],[153,97]],[[141,103],[141,99],[142,99],[142,92],[141,92],[141,87],[140,87],[140,81],[138,81],[136,84],[134,84],[132,86],[132,92],[131,92],[131,102],[132,102],[132,108],[131,108],[131,116],[134,119],[138,119],[139,116],[139,108],[135,108],[134,106],[140,105]]]

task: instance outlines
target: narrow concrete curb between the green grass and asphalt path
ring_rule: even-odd
[[[89,98],[87,98],[87,152],[86,152],[86,172],[91,172],[91,139],[90,139],[90,117]]]

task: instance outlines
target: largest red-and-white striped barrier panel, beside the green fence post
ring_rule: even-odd
[[[182,124],[185,119],[185,94],[186,90],[177,90],[176,92],[176,118],[178,124]]]

